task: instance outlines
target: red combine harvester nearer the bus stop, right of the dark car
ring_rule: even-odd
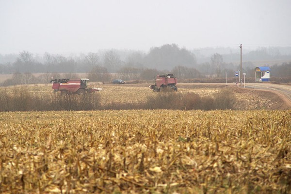
[[[177,78],[173,73],[167,73],[164,75],[158,75],[155,79],[155,84],[150,85],[150,89],[154,90],[155,92],[160,92],[161,88],[171,88],[178,91],[177,89]]]

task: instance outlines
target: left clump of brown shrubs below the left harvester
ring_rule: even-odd
[[[81,111],[97,110],[100,107],[97,93],[86,95],[57,94],[34,95],[23,86],[14,87],[11,92],[0,90],[0,111]]]

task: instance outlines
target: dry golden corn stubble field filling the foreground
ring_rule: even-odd
[[[0,193],[290,193],[289,111],[0,113]]]

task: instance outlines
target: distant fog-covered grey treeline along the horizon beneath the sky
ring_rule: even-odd
[[[157,74],[167,72],[175,73],[179,79],[224,78],[226,72],[230,77],[234,76],[234,72],[240,69],[238,63],[225,62],[231,61],[230,57],[238,61],[240,59],[237,56],[238,53],[214,53],[203,63],[197,63],[196,55],[202,57],[201,53],[179,48],[175,44],[154,47],[148,53],[128,51],[121,54],[119,50],[112,49],[69,57],[47,52],[43,57],[39,57],[29,51],[22,51],[16,61],[0,63],[0,74],[14,74],[16,82],[22,80],[21,82],[29,83],[29,80],[33,80],[32,73],[45,73],[46,76],[42,78],[45,81],[49,81],[52,74],[60,75],[60,73],[69,73],[70,75],[87,73],[91,81],[109,81],[116,73],[119,78],[124,80],[149,80]],[[5,57],[7,56],[0,55],[0,59]],[[254,76],[256,65],[251,61],[255,60],[256,57],[260,60],[284,58],[288,61],[288,57],[281,55],[279,50],[275,48],[260,48],[250,51],[243,55],[242,63],[242,71],[246,72],[247,77]],[[289,57],[291,58],[291,56]],[[290,75],[291,62],[271,67],[271,76],[273,77],[291,77]],[[56,77],[54,76],[54,78]]]

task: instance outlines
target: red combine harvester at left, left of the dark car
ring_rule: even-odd
[[[52,82],[54,93],[60,91],[61,95],[84,95],[86,92],[92,93],[102,90],[101,88],[87,88],[88,80],[89,79],[53,79],[50,82]]]

